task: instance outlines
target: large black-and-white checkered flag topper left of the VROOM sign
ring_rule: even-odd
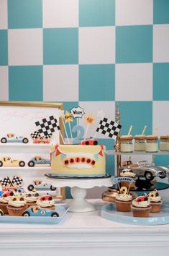
[[[58,126],[58,120],[55,119],[54,116],[49,116],[48,118],[42,119],[42,121],[35,122],[38,132],[40,132],[40,136],[49,137],[53,132],[55,132],[55,128],[60,130]]]

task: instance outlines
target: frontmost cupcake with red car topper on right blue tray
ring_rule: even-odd
[[[131,208],[134,217],[149,217],[151,210],[149,197],[147,195],[137,197],[132,201]]]

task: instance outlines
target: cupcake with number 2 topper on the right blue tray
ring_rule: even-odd
[[[124,189],[124,193],[122,192]],[[120,194],[116,195],[116,205],[119,212],[129,212],[132,205],[132,195],[128,195],[127,187],[121,187]]]

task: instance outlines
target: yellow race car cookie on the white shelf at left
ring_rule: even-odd
[[[9,156],[3,156],[0,158],[0,167],[24,167],[25,163],[24,161],[20,159],[12,159]]]

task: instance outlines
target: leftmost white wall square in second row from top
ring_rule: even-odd
[[[42,29],[8,30],[9,65],[42,65]]]

